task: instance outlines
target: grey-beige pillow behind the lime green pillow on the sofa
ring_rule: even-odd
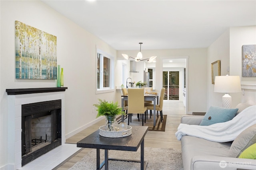
[[[228,152],[228,157],[238,158],[252,144],[256,143],[256,124],[248,127],[236,137]]]

